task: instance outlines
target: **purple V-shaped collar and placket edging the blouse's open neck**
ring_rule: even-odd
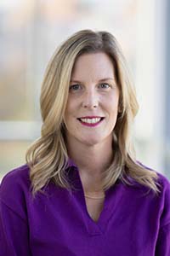
[[[114,189],[116,189],[116,186],[112,186],[110,189],[105,191],[105,201],[102,211],[99,214],[99,218],[97,221],[94,221],[93,218],[88,213],[88,207],[85,201],[84,196],[84,190],[82,187],[82,180],[78,171],[78,168],[76,165],[71,165],[71,181],[74,184],[74,188],[76,190],[72,190],[73,195],[77,197],[77,201],[82,206],[82,216],[83,220],[86,224],[86,228],[88,230],[88,234],[90,236],[99,236],[103,235],[105,233],[105,230],[107,229],[107,226],[109,224],[109,221],[111,219],[111,216],[113,215],[113,212],[115,210],[115,203],[112,200],[112,194],[114,193]]]

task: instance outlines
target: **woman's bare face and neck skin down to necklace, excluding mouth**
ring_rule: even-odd
[[[110,57],[102,52],[79,56],[71,74],[65,110],[66,141],[88,195],[99,195],[96,193],[100,190],[101,173],[111,164],[118,101],[119,90]],[[91,127],[77,119],[85,116],[104,119]]]

